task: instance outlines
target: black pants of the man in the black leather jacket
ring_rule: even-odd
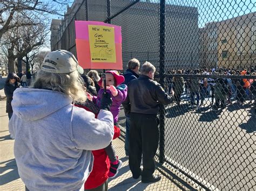
[[[129,166],[133,176],[150,178],[155,170],[154,155],[159,141],[159,119],[156,115],[131,113]],[[140,162],[143,154],[143,171]]]

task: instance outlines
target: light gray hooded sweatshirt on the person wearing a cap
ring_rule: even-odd
[[[113,138],[113,116],[72,105],[57,91],[18,88],[9,131],[15,136],[18,173],[29,190],[79,190],[89,176],[91,150],[105,148]]]

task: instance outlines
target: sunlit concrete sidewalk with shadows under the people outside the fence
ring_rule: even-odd
[[[25,190],[24,183],[19,178],[17,165],[14,157],[14,140],[10,139],[8,131],[8,115],[5,113],[6,101],[0,101],[0,190]],[[114,179],[109,179],[109,190],[185,190],[190,189],[184,186],[177,179],[167,178],[162,175],[161,181],[152,184],[145,184],[132,178],[125,158],[124,142],[120,139],[113,141],[119,159],[123,161],[123,168]],[[158,170],[155,172],[160,174]]]

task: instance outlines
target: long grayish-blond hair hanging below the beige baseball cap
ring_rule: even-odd
[[[76,102],[85,102],[86,94],[83,82],[77,70],[69,74],[57,74],[39,70],[31,87],[51,89],[69,95]]]

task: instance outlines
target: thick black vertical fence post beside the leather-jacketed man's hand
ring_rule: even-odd
[[[162,87],[165,87],[165,0],[160,0],[160,47],[159,47],[159,82]],[[159,162],[164,163],[164,148],[165,148],[165,135],[164,135],[164,124],[165,124],[165,109],[164,105],[160,105],[160,114],[159,114]]]

